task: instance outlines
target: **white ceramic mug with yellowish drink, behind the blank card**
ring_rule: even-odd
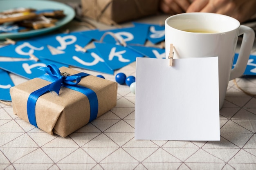
[[[195,33],[187,31],[206,31]],[[210,33],[211,32],[211,33]],[[238,36],[243,34],[236,66],[232,69]],[[181,13],[165,20],[166,58],[219,58],[219,102],[222,107],[229,80],[243,75],[254,43],[254,31],[238,20],[216,13]],[[202,70],[203,71],[203,70]],[[207,94],[206,94],[207,95]]]

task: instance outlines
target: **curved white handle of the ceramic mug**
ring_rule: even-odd
[[[241,25],[239,28],[239,35],[243,34],[243,40],[238,54],[238,59],[235,67],[231,70],[229,80],[235,79],[243,75],[249,56],[251,54],[252,46],[255,39],[255,33],[249,26]]]

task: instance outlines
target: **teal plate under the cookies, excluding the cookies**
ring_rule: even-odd
[[[44,33],[48,33],[50,31],[54,31],[61,26],[70,22],[74,16],[75,11],[72,7],[63,4],[61,2],[55,2],[50,0],[0,0],[0,12],[8,10],[8,9],[15,9],[15,8],[33,8],[33,9],[59,9],[63,10],[65,13],[65,17],[56,22],[55,26],[38,29],[38,30],[31,30],[19,33],[0,33],[0,40],[4,40],[5,38],[10,39],[18,39],[18,38],[28,38]]]

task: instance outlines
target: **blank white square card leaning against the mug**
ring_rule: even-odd
[[[135,139],[219,141],[218,87],[218,57],[137,57]]]

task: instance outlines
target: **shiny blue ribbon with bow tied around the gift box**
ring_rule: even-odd
[[[58,67],[54,64],[48,65],[47,67],[40,67],[38,68],[42,71],[45,71],[47,74],[42,75],[38,78],[45,79],[48,82],[52,82],[51,84],[44,86],[43,88],[40,88],[34,92],[32,92],[29,95],[29,98],[27,100],[27,116],[29,119],[29,123],[36,126],[36,101],[37,99],[49,91],[55,91],[57,94],[59,94],[59,91],[61,89],[61,86],[64,86],[66,88],[70,88],[74,91],[78,91],[80,93],[83,93],[86,95],[89,99],[90,103],[90,120],[97,118],[98,115],[98,98],[94,91],[92,91],[90,88],[86,88],[83,86],[79,86],[78,83],[81,81],[81,77],[86,77],[90,74],[87,73],[78,73],[75,75],[70,76],[63,76],[61,75],[61,71],[58,69]]]

